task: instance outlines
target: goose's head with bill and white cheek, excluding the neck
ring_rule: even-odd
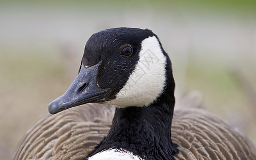
[[[79,74],[49,104],[49,112],[89,102],[120,108],[174,106],[174,87],[172,65],[157,35],[149,29],[106,29],[88,39]]]

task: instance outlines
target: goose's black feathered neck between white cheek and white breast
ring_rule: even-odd
[[[174,101],[162,100],[148,107],[116,108],[110,132],[89,156],[122,148],[145,159],[174,159],[179,150],[170,139],[173,109]]]

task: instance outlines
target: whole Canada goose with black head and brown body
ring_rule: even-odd
[[[151,30],[100,31],[49,112],[89,104],[40,119],[13,159],[256,159],[253,144],[221,119],[174,112],[174,88],[172,64]]]

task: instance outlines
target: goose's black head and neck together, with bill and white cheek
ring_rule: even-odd
[[[149,29],[106,29],[88,39],[79,74],[49,112],[89,102],[115,105],[109,133],[88,157],[125,150],[142,159],[174,159],[174,88],[172,64],[157,35]]]

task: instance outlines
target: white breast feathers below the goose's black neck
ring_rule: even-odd
[[[128,150],[124,149],[108,149],[101,151],[91,157],[88,160],[126,160],[126,159],[133,159],[133,160],[143,160],[141,157],[134,155]]]

